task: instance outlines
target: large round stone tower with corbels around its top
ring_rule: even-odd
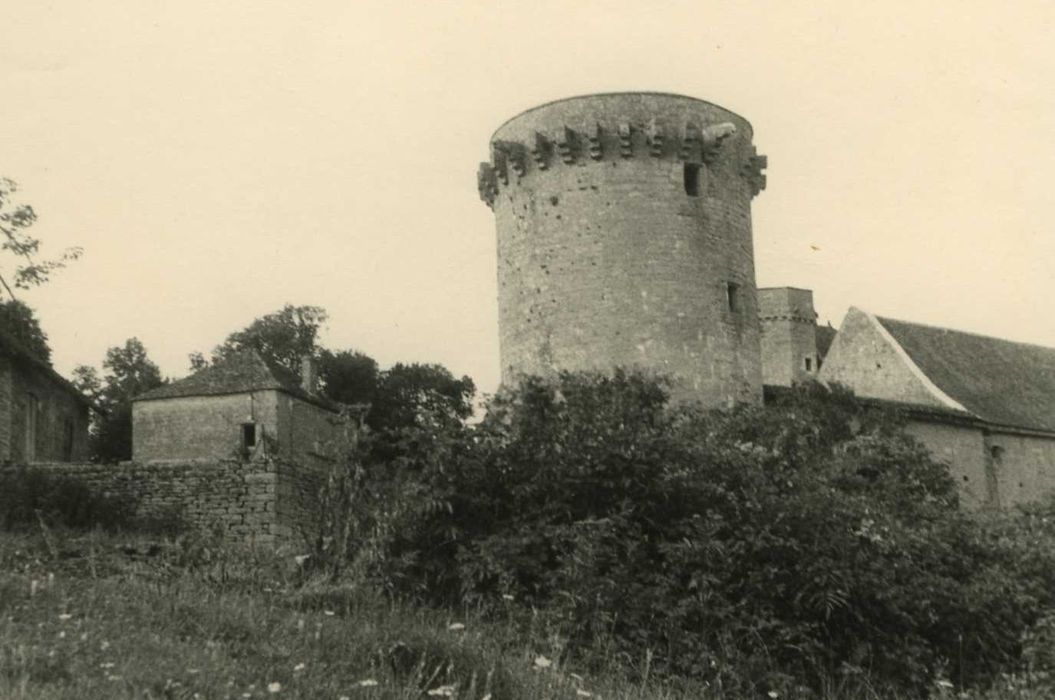
[[[710,406],[762,398],[751,125],[703,100],[588,95],[491,139],[502,381],[642,367]]]

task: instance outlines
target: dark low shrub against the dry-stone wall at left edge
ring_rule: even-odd
[[[96,493],[69,477],[39,469],[0,470],[0,527],[20,530],[46,525],[73,529],[127,529],[135,523],[131,499]]]

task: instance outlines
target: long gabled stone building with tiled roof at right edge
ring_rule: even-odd
[[[851,308],[820,378],[904,408],[908,431],[948,463],[968,504],[1055,491],[1055,348]]]

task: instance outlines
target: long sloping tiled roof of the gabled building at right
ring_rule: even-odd
[[[1055,432],[1055,348],[877,319],[970,412],[996,425]]]

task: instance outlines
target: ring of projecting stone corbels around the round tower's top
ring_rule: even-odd
[[[736,127],[729,121],[701,124],[687,120],[672,125],[655,117],[645,123],[562,124],[554,131],[535,131],[526,142],[493,141],[491,160],[480,163],[477,184],[480,198],[491,207],[502,188],[516,184],[534,171],[554,167],[639,157],[711,167],[729,151],[724,144],[735,134]],[[734,149],[731,157],[740,157],[742,152],[743,149]],[[757,155],[754,147],[749,148],[747,157],[735,168],[752,197],[765,189],[766,176],[762,173],[765,168],[766,157]]]

